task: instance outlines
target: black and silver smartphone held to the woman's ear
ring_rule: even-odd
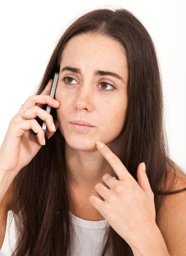
[[[50,90],[50,93],[49,93],[49,95],[52,96],[52,98],[54,98],[54,99],[55,99],[55,92],[56,92],[56,88],[57,88],[58,79],[59,79],[59,73],[55,72],[54,77],[53,77],[53,81],[52,81],[51,90]],[[50,105],[45,104],[45,105],[43,105],[42,109],[44,109],[46,112],[50,113],[53,116],[53,119],[56,119],[56,109],[55,108],[52,108]],[[43,128],[44,137],[45,137],[45,140],[47,141],[49,130],[47,128],[46,122],[43,121],[42,119],[40,119],[38,116],[35,119],[37,120],[39,125]],[[34,135],[37,135],[36,133],[34,133],[34,131],[32,131],[32,133]]]

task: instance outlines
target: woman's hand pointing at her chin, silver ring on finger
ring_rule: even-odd
[[[94,195],[90,196],[89,201],[132,247],[137,241],[145,242],[146,236],[151,235],[151,231],[157,227],[154,193],[143,169],[143,163],[137,168],[136,181],[120,159],[109,147],[103,145],[103,148],[98,148],[98,145],[97,148],[110,163],[119,180],[110,179],[109,188],[97,183],[95,191],[104,201]],[[109,173],[104,175],[103,182],[106,183],[109,176]]]

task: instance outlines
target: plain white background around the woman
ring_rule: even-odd
[[[0,145],[10,119],[40,84],[62,33],[74,18],[99,7],[128,9],[151,35],[163,78],[165,125],[171,157],[186,172],[184,0],[1,1]]]

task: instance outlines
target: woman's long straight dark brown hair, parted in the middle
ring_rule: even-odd
[[[137,17],[126,9],[95,9],[78,17],[58,41],[35,94],[39,95],[54,73],[60,71],[63,49],[70,38],[88,32],[114,38],[126,51],[128,105],[120,133],[120,160],[135,180],[137,166],[146,163],[146,173],[155,195],[157,221],[163,199],[175,193],[172,189],[178,165],[169,157],[155,46]],[[57,119],[56,109],[52,110],[52,115]],[[70,246],[74,230],[69,217],[71,201],[64,145],[65,139],[58,128],[15,177],[14,209],[15,212],[21,210],[17,213],[18,238],[12,256],[72,255]],[[183,190],[186,188],[176,192]],[[133,256],[132,249],[111,226],[106,228],[103,248],[100,248],[100,256],[106,253]]]

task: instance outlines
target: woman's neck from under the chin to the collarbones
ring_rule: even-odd
[[[119,157],[116,141],[107,144],[107,146]],[[94,191],[94,186],[97,183],[103,183],[102,177],[106,173],[115,174],[112,166],[98,151],[96,145],[89,146],[88,149],[87,147],[74,149],[65,141],[65,158],[71,186],[84,191]]]

